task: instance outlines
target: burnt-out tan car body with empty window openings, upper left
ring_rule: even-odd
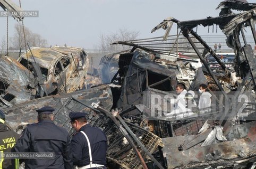
[[[55,50],[54,50],[55,49]],[[58,92],[71,92],[74,89],[82,88],[84,77],[88,68],[88,58],[87,55],[81,55],[79,52],[72,54],[69,52],[68,48],[38,48],[32,47],[29,51],[22,54],[18,59],[25,68],[29,69],[38,81],[38,92],[36,97],[43,97],[47,95],[55,95]],[[56,50],[58,49],[58,50]],[[64,51],[64,49],[66,49]],[[73,51],[79,48],[73,48]],[[62,52],[63,51],[63,52]],[[35,69],[35,65],[39,67],[38,70]],[[74,73],[77,73],[76,77],[79,78],[79,82],[72,83],[70,86],[71,78],[75,77]],[[41,76],[40,76],[41,74]],[[43,91],[42,91],[43,90]]]

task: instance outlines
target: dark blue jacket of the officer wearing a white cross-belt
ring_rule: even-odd
[[[79,132],[75,133],[72,137],[73,164],[77,166],[90,164],[87,140],[80,131],[86,133],[89,138],[92,163],[106,166],[107,137],[99,128],[92,127],[89,124],[82,126]]]

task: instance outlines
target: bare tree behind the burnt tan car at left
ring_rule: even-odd
[[[15,33],[11,37],[11,43],[13,49],[25,49],[25,41],[23,35],[23,28],[21,24],[15,25]],[[24,27],[25,40],[30,46],[46,47],[47,40],[42,39],[41,35],[33,33],[27,27]]]

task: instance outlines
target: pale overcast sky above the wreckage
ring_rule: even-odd
[[[18,0],[13,0],[19,5]],[[168,16],[180,21],[218,16],[219,0],[21,0],[23,10],[39,11],[39,17],[24,18],[24,25],[40,34],[49,45],[79,46],[93,49],[99,35],[118,29],[139,31],[138,38],[164,35],[164,30],[150,33]],[[253,3],[252,0],[248,1]],[[254,2],[255,3],[255,2]],[[0,9],[2,11],[2,8]],[[0,38],[6,36],[6,18],[0,17]],[[16,24],[9,19],[9,36]],[[176,26],[176,25],[175,25]],[[199,29],[207,35],[207,29]],[[221,33],[219,30],[218,33]],[[215,33],[216,34],[216,33]]]

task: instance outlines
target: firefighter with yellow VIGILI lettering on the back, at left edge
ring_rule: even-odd
[[[19,139],[19,135],[7,129],[5,125],[5,114],[0,110],[0,151],[3,153],[11,152],[15,142]],[[0,157],[0,168],[5,169],[18,169],[18,159],[6,159],[4,156]]]

